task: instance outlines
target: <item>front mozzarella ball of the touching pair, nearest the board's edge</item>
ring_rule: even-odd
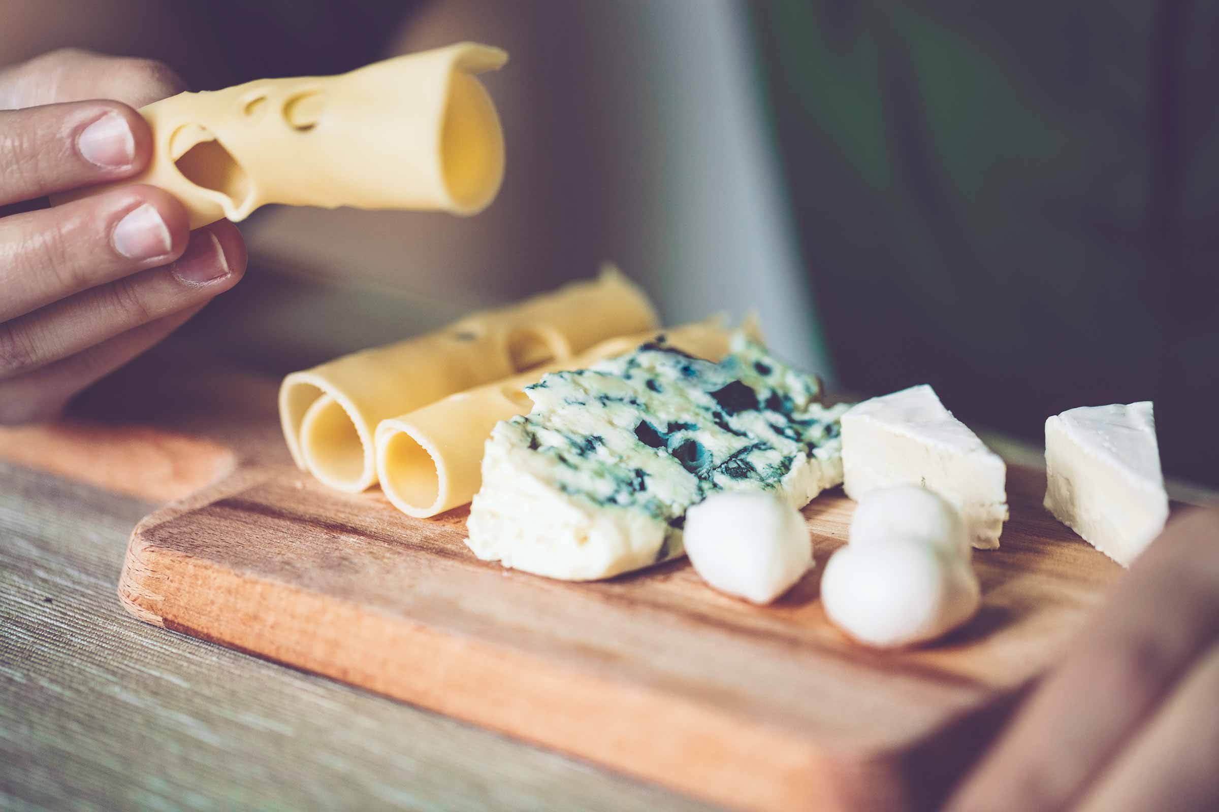
[[[822,604],[835,626],[868,645],[895,648],[934,639],[969,620],[980,600],[968,560],[928,544],[875,539],[830,556]]]

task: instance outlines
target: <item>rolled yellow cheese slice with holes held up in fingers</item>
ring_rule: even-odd
[[[140,108],[147,169],[117,185],[173,194],[197,229],[265,203],[474,214],[503,179],[503,133],[475,74],[508,55],[460,43],[334,77],[258,79]]]

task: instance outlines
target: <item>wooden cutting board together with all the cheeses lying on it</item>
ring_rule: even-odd
[[[1047,480],[614,271],[289,375],[279,419],[134,530],[133,615],[736,808],[906,791],[1168,510],[1146,404],[1056,416]]]

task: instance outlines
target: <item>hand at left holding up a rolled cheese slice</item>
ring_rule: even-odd
[[[182,90],[158,62],[85,51],[0,69],[0,424],[54,416],[245,273],[236,226],[190,233],[160,189],[35,202],[141,172],[152,135],[134,107]]]

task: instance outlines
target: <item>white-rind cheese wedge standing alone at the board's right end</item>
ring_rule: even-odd
[[[1150,401],[1081,407],[1046,420],[1046,509],[1121,566],[1168,520]]]

